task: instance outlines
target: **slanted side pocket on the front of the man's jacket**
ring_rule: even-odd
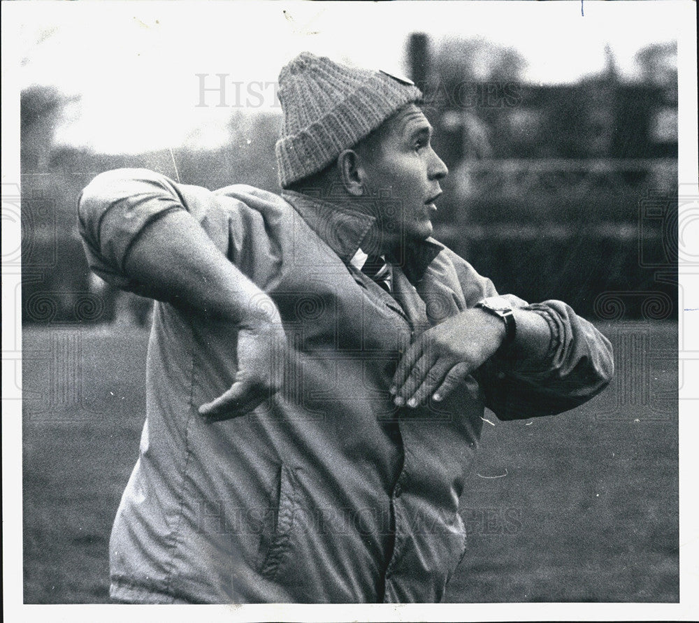
[[[298,515],[296,474],[283,464],[270,501],[271,525],[262,534],[260,573],[268,580],[275,580],[282,575],[284,565],[291,555],[291,536]]]

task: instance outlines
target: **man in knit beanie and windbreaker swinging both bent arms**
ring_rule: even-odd
[[[281,196],[123,170],[80,199],[92,269],[159,301],[117,601],[439,601],[484,406],[559,413],[612,374],[565,303],[430,238],[415,85],[305,52],[279,86]]]

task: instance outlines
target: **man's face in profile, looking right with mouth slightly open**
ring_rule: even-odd
[[[433,201],[442,193],[439,180],[448,169],[432,149],[431,136],[425,115],[410,104],[359,149],[381,252],[400,253],[403,245],[432,234],[431,217],[437,211]]]

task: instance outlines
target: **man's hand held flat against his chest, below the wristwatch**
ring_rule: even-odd
[[[391,394],[397,406],[440,401],[489,359],[505,338],[505,323],[482,309],[468,309],[424,332],[403,355]]]

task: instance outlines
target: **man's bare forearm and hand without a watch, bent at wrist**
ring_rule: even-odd
[[[176,197],[171,199],[176,208]],[[280,389],[287,340],[279,310],[187,210],[175,209],[145,227],[124,259],[124,271],[148,296],[238,327],[236,380],[199,407],[208,421],[245,415]]]

